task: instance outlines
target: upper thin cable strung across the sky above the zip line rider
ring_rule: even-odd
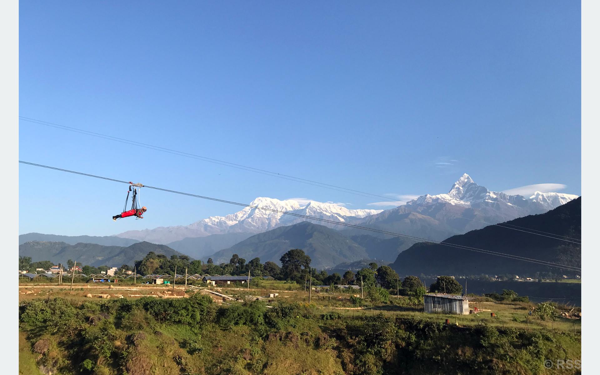
[[[85,135],[92,136],[92,137],[98,137],[98,138],[102,138],[102,139],[112,140],[114,142],[127,143],[128,145],[140,146],[140,147],[152,149],[155,151],[167,152],[168,154],[179,155],[179,156],[183,156],[183,157],[193,158],[196,160],[207,161],[208,163],[220,164],[220,165],[227,166],[227,167],[233,167],[236,169],[247,170],[248,172],[260,173],[262,175],[283,178],[283,179],[286,179],[289,181],[301,182],[302,184],[308,184],[308,185],[313,185],[313,186],[317,186],[317,187],[328,188],[330,190],[341,191],[343,193],[355,194],[357,196],[362,196],[362,197],[383,198],[383,199],[385,199],[385,202],[389,202],[389,203],[398,203],[398,202],[409,203],[409,201],[406,201],[406,200],[389,200],[389,197],[380,196],[378,194],[367,193],[365,191],[360,191],[360,190],[353,190],[350,188],[344,188],[344,187],[340,187],[337,185],[325,184],[323,182],[313,181],[310,179],[304,179],[304,178],[299,178],[299,177],[295,177],[295,176],[284,175],[283,173],[271,172],[271,171],[265,170],[265,169],[244,166],[242,164],[230,163],[229,161],[223,161],[223,160],[204,157],[204,156],[200,156],[200,155],[190,154],[188,152],[177,151],[174,149],[164,148],[161,146],[149,145],[148,143],[142,143],[142,142],[137,142],[135,140],[113,137],[113,136],[109,136],[107,134],[95,133],[94,131],[83,130],[83,129],[74,128],[74,127],[68,127],[66,125],[54,124],[53,122],[42,121],[42,120],[38,120],[38,119],[28,118],[25,116],[19,116],[19,118],[22,119],[23,121],[33,122],[35,124],[40,124],[40,125],[46,125],[47,127],[73,131],[74,133],[80,133],[80,134],[85,134]],[[411,205],[425,207],[425,205],[419,205],[418,203],[411,203]],[[488,223],[487,221],[476,220],[476,219],[464,217],[461,215],[451,214],[449,212],[447,214],[457,217],[457,218],[463,218],[465,220],[476,221],[478,223],[495,225],[495,226],[503,227],[506,229],[518,230],[519,232],[530,233],[532,235],[538,235],[538,236],[543,236],[543,237],[547,237],[547,238],[553,238],[553,239],[557,239],[559,241],[566,241],[566,242],[572,242],[574,244],[581,244],[581,240],[577,239],[577,238],[571,238],[571,237],[563,236],[563,235],[556,235],[554,233],[542,232],[541,230],[529,229],[529,228],[525,228],[525,227],[514,226],[511,224]],[[520,229],[517,229],[517,228],[520,228]],[[527,229],[527,230],[524,230],[524,229]],[[528,230],[532,230],[533,232],[528,232]],[[535,233],[535,232],[539,232],[539,233]],[[541,234],[541,233],[545,233],[545,234]],[[550,235],[550,236],[548,236],[548,235]],[[559,237],[562,237],[562,238],[559,238]],[[565,238],[568,238],[568,239],[565,239]],[[575,240],[575,241],[571,241],[571,240]]]

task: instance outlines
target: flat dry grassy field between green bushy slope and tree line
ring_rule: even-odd
[[[260,298],[266,304],[275,304],[277,301],[308,303],[308,292],[304,292],[304,286],[296,283],[285,283],[282,281],[262,281],[262,288],[250,287],[250,289],[241,286],[227,287],[203,287],[202,289],[188,288],[188,294],[199,291],[208,293],[208,290],[229,295],[234,299],[243,301],[247,296]],[[141,296],[154,295],[163,296],[167,292],[173,296],[184,296],[184,286],[177,284],[173,292],[173,286],[166,285],[142,285],[133,284],[112,285],[112,289],[107,284],[74,284],[73,291],[70,293],[70,287],[64,284],[56,286],[51,284],[20,284],[20,301],[27,301],[37,298],[49,298],[62,296],[75,301],[88,301],[87,295],[92,298],[100,298],[100,295],[111,295],[111,298],[140,298]],[[299,290],[288,290],[299,289]],[[27,294],[30,291],[31,293]],[[278,293],[275,298],[267,298],[269,293]],[[340,293],[311,293],[310,302],[316,308],[325,312],[335,311],[344,316],[371,316],[383,313],[389,317],[407,317],[427,320],[429,322],[445,322],[449,319],[454,325],[473,326],[473,325],[492,325],[499,327],[512,327],[520,329],[553,329],[563,332],[581,332],[581,319],[568,319],[565,317],[556,317],[556,320],[540,320],[535,316],[529,316],[529,310],[535,307],[533,302],[492,302],[487,298],[477,298],[469,301],[470,308],[477,307],[480,311],[477,314],[456,315],[456,314],[426,314],[422,305],[411,304],[409,298],[404,296],[390,296],[388,304],[379,304],[368,307],[357,307],[350,302],[350,296],[359,295],[360,292],[352,290],[351,292]],[[215,302],[222,303],[223,298],[217,295],[211,295]],[[580,308],[572,306],[558,306],[560,311],[569,311],[573,308],[575,312],[581,312]],[[491,317],[490,313],[495,316]]]

